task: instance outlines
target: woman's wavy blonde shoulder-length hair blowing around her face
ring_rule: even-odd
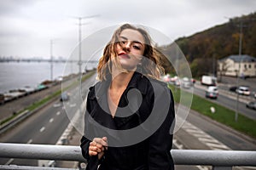
[[[139,31],[144,37],[145,50],[143,57],[147,59],[142,59],[142,68],[140,72],[146,77],[160,79],[160,75],[164,72],[164,68],[160,65],[160,53],[153,47],[151,37],[149,37],[147,31],[145,31],[143,28],[131,26],[130,24],[119,26],[119,28],[114,31],[113,37],[111,38],[110,42],[108,42],[108,45],[104,48],[103,55],[99,60],[99,64],[97,66],[97,79],[99,81],[103,81],[107,80],[108,76],[111,76],[111,65],[113,65],[111,59],[116,60],[117,54],[114,49],[116,44],[119,43],[120,33],[125,29]],[[118,62],[117,65],[119,65]],[[121,68],[121,66],[119,66],[119,68]]]

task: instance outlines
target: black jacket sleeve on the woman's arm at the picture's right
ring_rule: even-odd
[[[166,97],[170,104],[166,104]],[[174,101],[171,90],[162,90],[155,97],[154,104],[159,116],[166,116],[160,127],[149,137],[148,141],[148,169],[149,170],[172,170],[174,163],[171,156],[172,131],[175,123]],[[168,111],[168,113],[163,113]]]

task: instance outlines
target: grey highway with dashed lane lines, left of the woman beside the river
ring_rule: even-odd
[[[95,76],[90,77],[83,83],[82,93],[86,95],[88,88],[95,82]],[[79,87],[68,91],[71,95],[70,103],[65,101],[65,104],[56,99],[42,110],[28,117],[24,122],[21,122],[8,132],[1,134],[0,142],[8,143],[23,143],[23,144],[56,144],[61,134],[67,128],[67,125],[78,107],[73,101],[74,98],[80,98]],[[73,99],[72,99],[73,98]],[[64,105],[63,105],[64,104]],[[68,114],[67,112],[68,111]],[[0,164],[15,164],[38,166],[38,161],[19,160],[19,159],[1,159]]]

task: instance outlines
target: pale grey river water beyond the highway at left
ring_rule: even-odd
[[[87,65],[86,68],[96,67]],[[53,63],[53,79],[78,73],[77,63]],[[3,62],[0,63],[0,93],[25,86],[37,87],[45,80],[51,79],[49,62]]]

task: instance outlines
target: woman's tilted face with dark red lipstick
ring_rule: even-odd
[[[145,40],[136,30],[125,29],[119,35],[119,43],[115,46],[120,65],[128,70],[135,70],[137,64],[143,59]]]

